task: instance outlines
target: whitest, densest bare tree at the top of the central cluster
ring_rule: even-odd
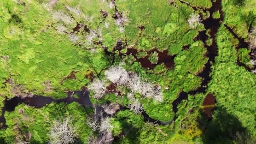
[[[120,65],[111,66],[105,71],[105,75],[110,81],[118,85],[125,85],[129,79],[127,71],[120,67]]]

